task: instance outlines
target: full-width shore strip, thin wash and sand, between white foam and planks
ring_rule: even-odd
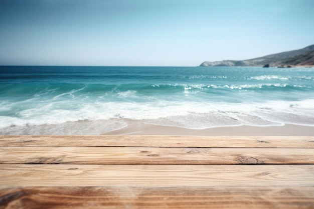
[[[189,129],[153,125],[140,120],[111,119],[2,128],[0,135],[314,136],[314,126],[295,124],[237,125]]]

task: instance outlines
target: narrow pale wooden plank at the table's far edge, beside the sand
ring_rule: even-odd
[[[314,136],[0,136],[0,146],[314,148]]]

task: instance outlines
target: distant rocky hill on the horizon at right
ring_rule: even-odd
[[[224,60],[215,62],[203,62],[200,66],[264,66],[267,64],[270,67],[288,65],[314,65],[314,45],[299,50],[281,52],[249,60]]]

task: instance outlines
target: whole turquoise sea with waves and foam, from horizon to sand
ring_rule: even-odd
[[[0,67],[0,135],[314,126],[314,68]]]

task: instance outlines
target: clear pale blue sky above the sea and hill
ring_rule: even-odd
[[[198,66],[314,44],[313,0],[0,0],[0,65]]]

